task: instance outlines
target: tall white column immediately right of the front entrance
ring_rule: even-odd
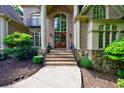
[[[78,14],[78,6],[77,5],[74,5],[74,13],[73,13],[73,16],[74,16],[74,46],[75,48],[77,48],[77,22],[75,21],[75,16]]]

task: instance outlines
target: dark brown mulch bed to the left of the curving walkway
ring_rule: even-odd
[[[42,65],[34,64],[32,59],[16,61],[7,59],[0,61],[0,86],[18,82],[36,73]]]

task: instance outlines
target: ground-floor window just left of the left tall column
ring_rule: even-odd
[[[41,47],[41,33],[34,32],[33,33],[33,47]]]

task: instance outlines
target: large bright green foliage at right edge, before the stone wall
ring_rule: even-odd
[[[112,60],[124,61],[124,38],[115,41],[105,48],[105,54]]]

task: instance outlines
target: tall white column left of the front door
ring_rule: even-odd
[[[41,6],[41,49],[45,49],[46,6]]]

